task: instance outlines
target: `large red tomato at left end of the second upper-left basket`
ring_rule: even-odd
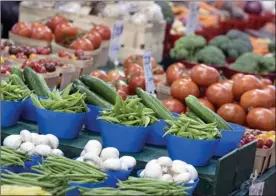
[[[71,23],[59,23],[55,29],[55,40],[60,44],[71,44],[77,38],[79,29]]]

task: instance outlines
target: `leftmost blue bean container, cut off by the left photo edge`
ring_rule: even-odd
[[[16,125],[23,109],[25,101],[0,101],[1,104],[1,127]]]

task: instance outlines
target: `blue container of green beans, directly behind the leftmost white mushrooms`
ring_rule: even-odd
[[[53,134],[58,139],[74,139],[82,129],[86,113],[54,112],[36,108],[36,115],[41,134]]]

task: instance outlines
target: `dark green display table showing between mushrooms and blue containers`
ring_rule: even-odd
[[[38,132],[36,124],[19,122],[14,127],[2,129],[2,141],[6,136],[19,134],[23,129],[27,129],[31,132]],[[60,140],[59,148],[67,157],[78,157],[84,145],[91,139],[101,141],[101,136],[99,133],[84,130],[80,133],[79,137],[74,140]],[[249,179],[252,173],[255,153],[256,143],[252,142],[241,148],[235,149],[219,159],[214,157],[207,166],[197,167],[196,169],[199,173],[200,182],[196,188],[195,195],[220,196],[238,190],[241,184]],[[124,154],[126,153],[122,153],[122,155]],[[145,146],[142,152],[128,154],[137,159],[138,164],[135,171],[143,168],[146,162],[151,159],[168,155],[166,148],[156,146]],[[132,175],[135,175],[135,173]]]

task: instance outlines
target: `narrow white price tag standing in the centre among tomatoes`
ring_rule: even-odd
[[[151,67],[151,53],[145,52],[143,55],[143,65],[145,73],[146,91],[155,95],[155,84],[153,81],[152,67]]]

